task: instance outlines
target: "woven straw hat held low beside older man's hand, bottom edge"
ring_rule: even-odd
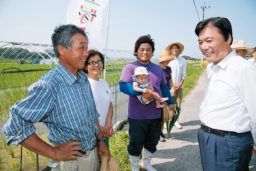
[[[108,161],[105,155],[101,155],[100,171],[119,171],[119,162],[113,157],[110,157],[110,161]]]

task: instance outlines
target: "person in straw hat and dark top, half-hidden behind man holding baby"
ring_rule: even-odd
[[[168,66],[171,60],[174,60],[174,57],[172,57],[172,54],[168,50],[163,50],[160,52],[160,60],[158,63],[160,63],[160,67],[163,69],[163,72],[165,74],[165,79],[167,81],[167,86],[172,94],[172,97],[175,95],[175,90],[174,90],[174,83],[172,79],[172,69]],[[163,128],[161,128],[161,135],[160,135],[160,142],[165,141],[165,135],[163,133]]]

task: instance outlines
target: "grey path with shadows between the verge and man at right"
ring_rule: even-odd
[[[179,122],[183,128],[174,127],[169,139],[158,143],[157,151],[151,160],[157,171],[202,171],[197,139],[201,122],[197,117],[197,109],[202,102],[207,82],[207,74],[204,71],[198,84],[181,104]],[[167,134],[166,129],[164,133]],[[256,154],[252,155],[250,171],[256,171]]]

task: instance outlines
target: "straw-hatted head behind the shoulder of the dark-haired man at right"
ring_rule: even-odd
[[[251,53],[254,51],[252,48],[247,48],[245,46],[245,41],[243,40],[234,40],[231,44],[232,50],[236,50],[237,54],[243,58],[245,58],[247,53]]]

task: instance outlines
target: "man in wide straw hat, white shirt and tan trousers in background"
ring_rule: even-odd
[[[169,44],[165,50],[168,50],[172,53],[172,57],[174,57],[174,60],[171,60],[168,66],[172,69],[172,77],[173,77],[173,82],[174,86],[171,87],[174,91],[175,94],[173,99],[174,103],[178,103],[178,107],[181,108],[181,101],[182,101],[182,96],[183,96],[183,82],[186,77],[186,62],[184,58],[180,57],[180,54],[184,50],[184,46],[182,43],[171,43]],[[181,129],[182,126],[179,124],[179,118],[177,121],[174,123],[175,127],[178,129]]]

